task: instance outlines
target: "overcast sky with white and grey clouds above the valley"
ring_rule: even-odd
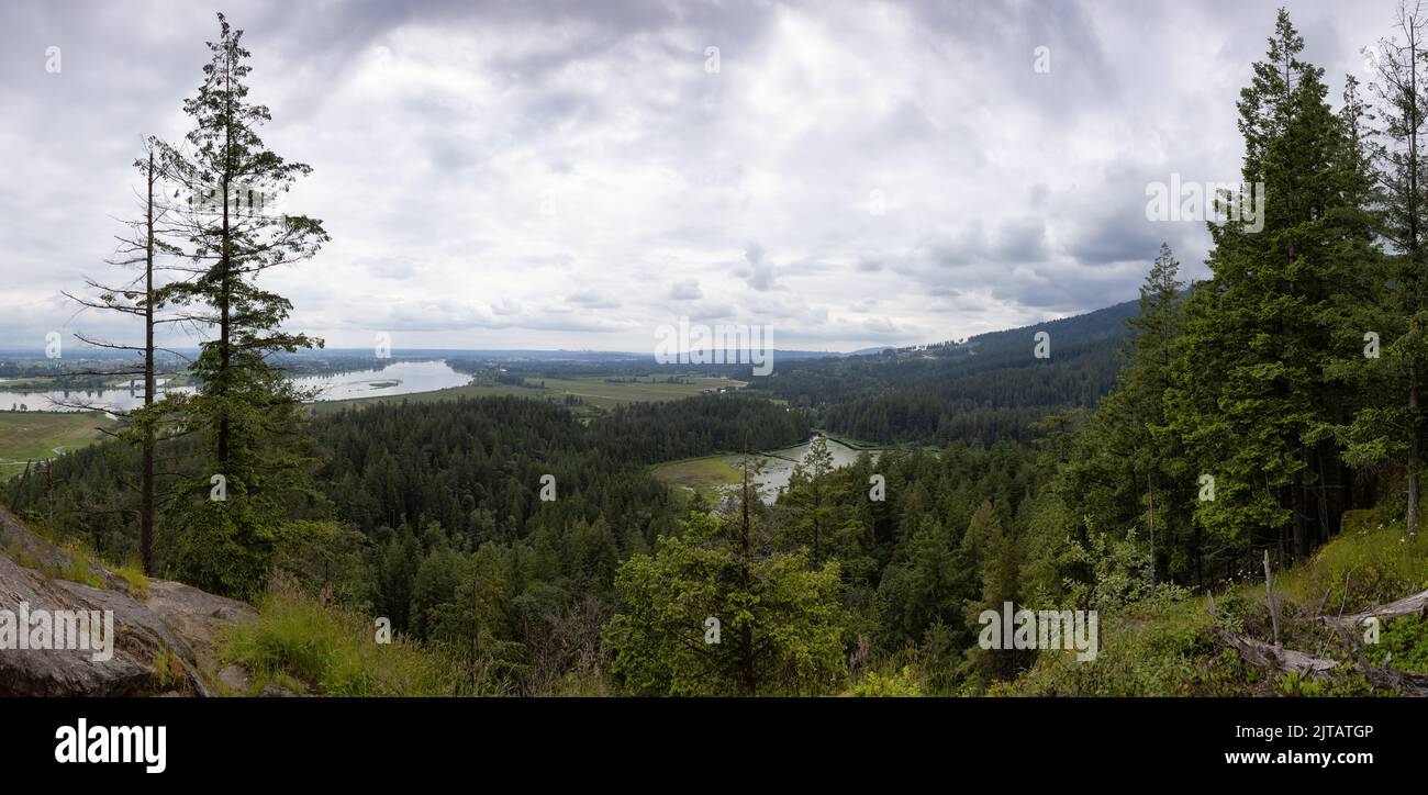
[[[1288,3],[1338,96],[1394,3]],[[144,134],[180,140],[201,3],[0,7],[0,347],[123,337]],[[330,347],[651,350],[681,315],[780,348],[964,337],[1135,297],[1195,221],[1147,184],[1238,180],[1275,4],[230,1],[287,203],[333,241],[270,273]],[[59,70],[50,47],[59,47]],[[1038,50],[1045,47],[1045,50]],[[714,50],[717,49],[717,50]],[[1038,70],[1041,66],[1050,69]]]

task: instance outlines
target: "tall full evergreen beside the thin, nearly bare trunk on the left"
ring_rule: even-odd
[[[191,367],[197,394],[176,407],[210,440],[208,464],[183,507],[178,564],[196,585],[243,594],[263,577],[306,465],[297,442],[303,395],[268,355],[321,344],[281,328],[291,303],[260,287],[258,277],[314,255],[327,233],[314,218],[270,211],[311,168],[284,161],[258,137],[271,114],[247,100],[243,31],[223,14],[218,26],[203,84],[184,101],[194,123],[187,147],[164,147],[166,173],[191,197],[184,230],[191,273],[173,298],[190,307],[186,320],[216,334]]]

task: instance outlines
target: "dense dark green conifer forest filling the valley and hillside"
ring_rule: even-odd
[[[224,34],[216,69],[241,77]],[[1048,358],[1017,330],[778,364],[748,394],[588,422],[514,397],[314,417],[260,355],[313,341],[276,331],[284,301],[250,290],[224,243],[163,295],[253,303],[257,325],[204,347],[200,394],[31,467],[6,498],[154,575],[260,602],[281,581],[388,618],[450,662],[440,692],[1000,692],[1045,652],[982,648],[982,609],[1185,604],[1261,561],[1308,561],[1375,504],[1418,544],[1428,60],[1382,60],[1375,96],[1347,77],[1335,107],[1302,51],[1281,11],[1237,103],[1262,228],[1211,221],[1212,275],[1194,284],[1168,247],[1147,251],[1140,300],[1044,324]],[[280,240],[310,254],[281,236],[320,224],[287,223]],[[211,231],[190,258],[211,260]],[[835,468],[815,441],[773,504],[753,457],[717,500],[648,470],[813,428],[908,444]],[[204,498],[211,472],[226,500]]]

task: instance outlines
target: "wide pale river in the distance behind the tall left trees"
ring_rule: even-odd
[[[447,387],[461,387],[471,381],[470,375],[457,373],[444,360],[396,361],[383,368],[356,370],[326,375],[301,375],[293,384],[301,390],[318,390],[317,400],[350,400],[360,397],[406,395],[430,393]],[[191,387],[174,387],[176,393],[193,391]],[[16,393],[0,390],[0,411],[81,411],[77,407],[57,405],[60,402],[83,402],[93,407],[130,411],[144,404],[143,381],[130,381],[127,387],[104,390],[56,390],[49,393]]]

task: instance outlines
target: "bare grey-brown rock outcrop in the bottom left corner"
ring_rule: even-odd
[[[0,695],[228,691],[218,684],[221,634],[247,621],[253,608],[163,579],[133,589],[111,571],[76,559],[0,510]],[[103,587],[71,582],[60,574],[80,571],[76,567],[89,567],[84,579]],[[80,615],[96,621],[87,642],[76,644],[76,632],[59,627]],[[34,635],[21,641],[21,631]],[[46,648],[27,648],[34,645]]]

